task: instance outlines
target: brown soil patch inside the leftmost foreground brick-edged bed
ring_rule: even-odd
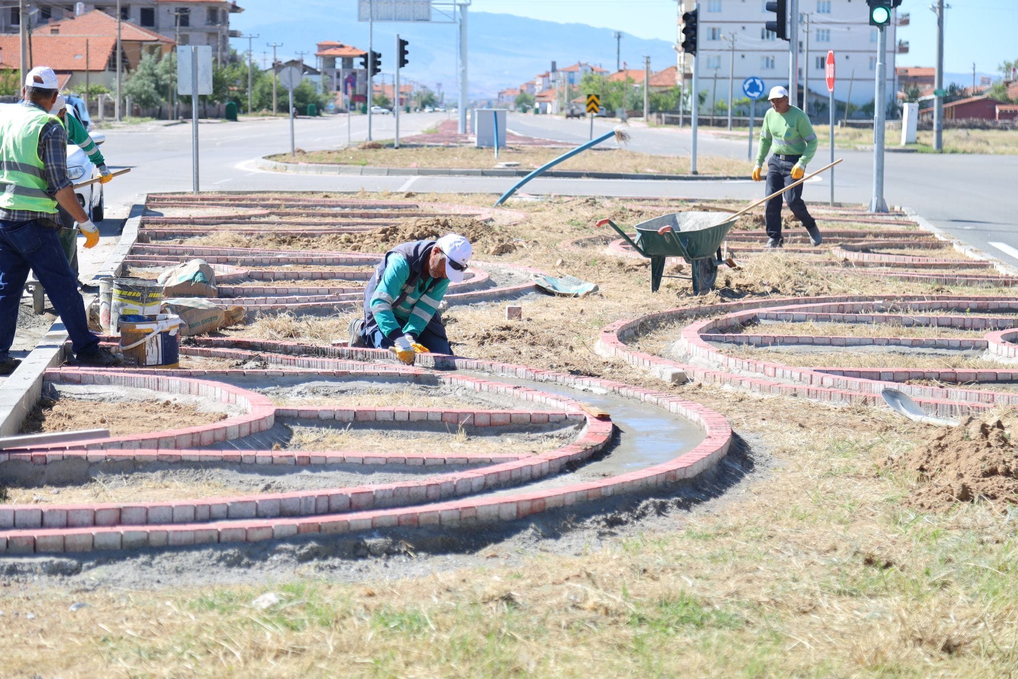
[[[202,412],[174,401],[97,403],[75,398],[43,397],[21,423],[21,434],[48,434],[105,429],[110,436],[145,434],[168,429],[211,425],[226,419],[224,412]]]

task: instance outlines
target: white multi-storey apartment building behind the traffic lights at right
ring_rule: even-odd
[[[678,3],[678,42],[682,42],[682,13],[694,2]],[[767,0],[702,0],[699,2],[699,49],[697,52],[699,89],[714,92],[710,81],[717,77],[715,99],[728,99],[729,73],[734,72],[735,98],[741,99],[742,81],[755,75],[768,88],[788,84],[789,44],[768,31],[766,22],[774,19],[767,11]],[[908,43],[899,41],[897,27],[907,25],[908,15],[895,10],[887,36],[887,102],[897,92],[895,57],[908,53]],[[873,100],[876,77],[878,30],[869,25],[864,0],[799,0],[799,74],[800,104],[803,90],[809,92],[809,110],[827,110],[827,53],[834,50],[836,59],[835,99],[845,102],[851,93],[854,107]],[[733,49],[734,45],[734,49]],[[686,87],[691,78],[691,59],[681,52],[678,67],[684,72]],[[819,105],[817,106],[817,103]]]

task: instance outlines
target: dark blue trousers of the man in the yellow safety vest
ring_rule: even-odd
[[[30,269],[60,315],[74,353],[99,351],[99,338],[89,332],[77,276],[67,264],[56,229],[38,221],[0,220],[0,360],[8,358],[14,342],[18,305]]]

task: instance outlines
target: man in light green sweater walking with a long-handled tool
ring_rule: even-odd
[[[753,181],[762,179],[761,170],[768,151],[774,150],[774,155],[768,160],[767,195],[780,191],[785,186],[801,179],[806,173],[806,164],[816,153],[816,133],[809,123],[809,118],[802,109],[788,102],[788,90],[778,86],[771,89],[768,96],[771,110],[764,116],[760,127],[759,150],[756,152],[756,167],[753,168]],[[824,238],[816,228],[816,220],[806,210],[802,200],[802,184],[785,191],[785,202],[809,232],[812,244],[819,245]],[[768,247],[781,247],[785,238],[781,235],[781,195],[775,195],[767,203],[765,212],[767,220]]]

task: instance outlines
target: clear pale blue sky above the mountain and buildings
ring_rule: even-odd
[[[842,0],[836,0],[842,1]],[[898,65],[934,66],[937,18],[932,0],[904,0],[899,11],[911,14],[911,25],[899,38],[910,43]],[[803,10],[811,0],[799,0]],[[859,11],[866,11],[860,0]],[[996,72],[1005,59],[1018,59],[1018,0],[953,0],[944,23],[944,68],[949,72]],[[640,38],[676,39],[675,0],[473,0],[474,11],[518,14],[548,21],[577,21],[623,31]]]

